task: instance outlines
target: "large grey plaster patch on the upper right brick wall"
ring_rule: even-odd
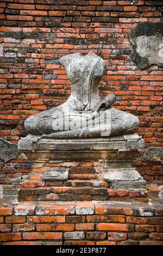
[[[134,62],[140,69],[163,67],[163,23],[142,22],[130,33]]]

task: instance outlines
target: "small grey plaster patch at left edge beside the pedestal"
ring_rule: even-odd
[[[0,138],[0,159],[4,162],[8,162],[11,159],[18,157],[17,144],[5,141],[5,139]]]

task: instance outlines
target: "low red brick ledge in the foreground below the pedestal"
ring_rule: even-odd
[[[2,245],[163,245],[159,204],[26,202],[0,215]]]

